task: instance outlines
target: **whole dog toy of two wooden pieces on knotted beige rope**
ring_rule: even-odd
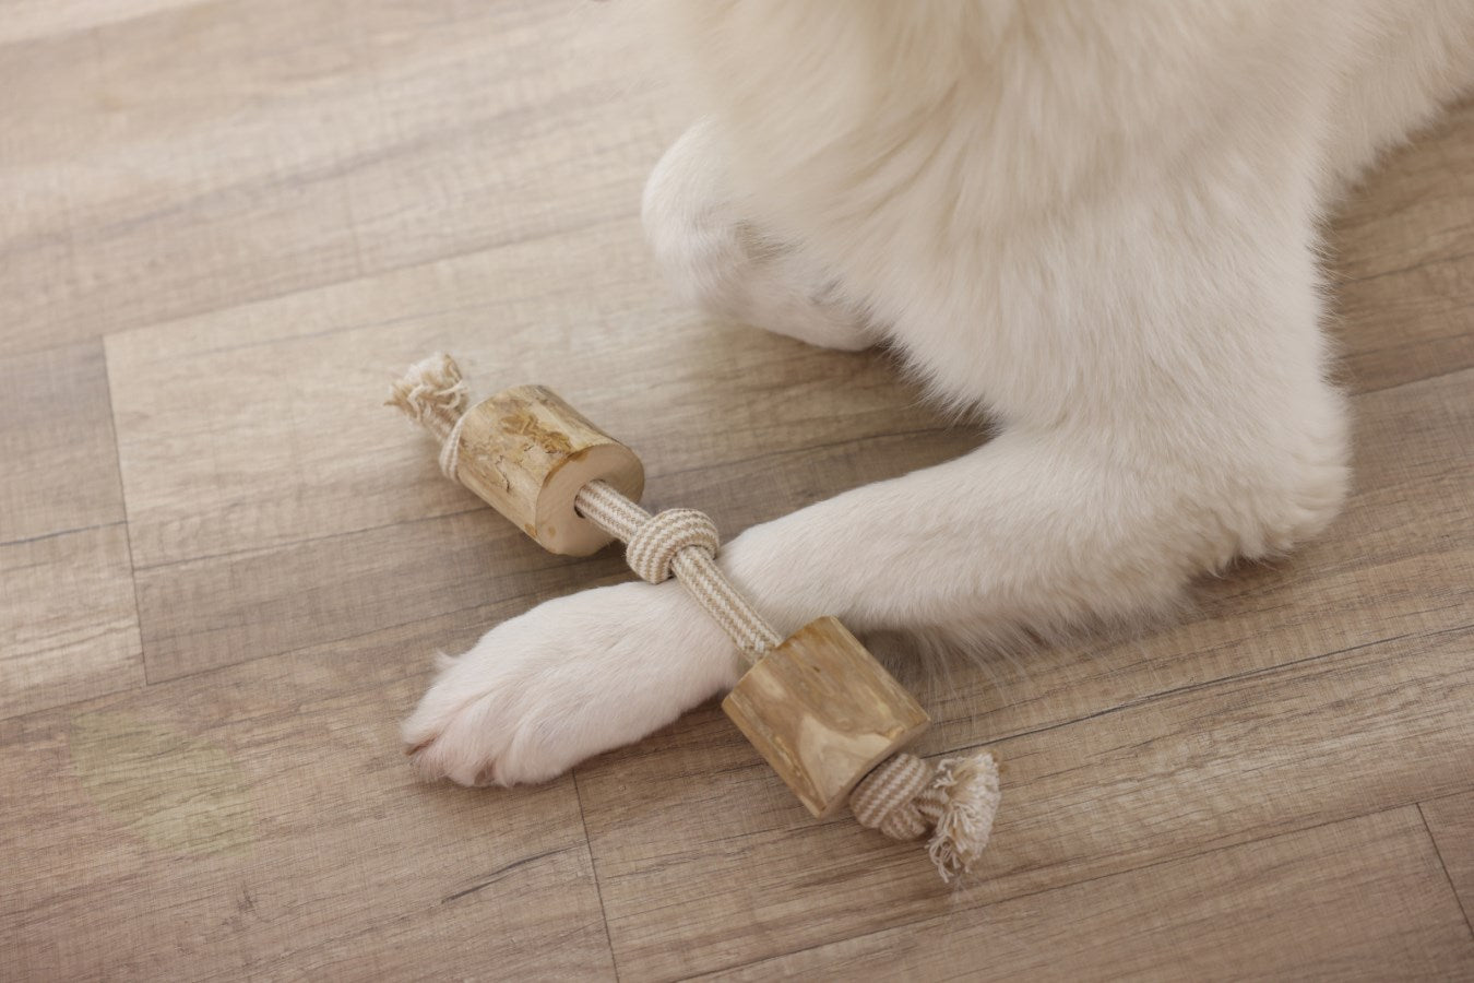
[[[718,535],[691,508],[652,516],[640,458],[542,386],[517,386],[467,408],[450,355],[410,367],[388,405],[441,444],[441,470],[551,553],[588,556],[613,539],[641,579],[675,576],[750,663],[722,710],[817,818],[845,803],[896,840],[930,833],[942,880],[988,846],[998,766],[979,752],[936,766],[902,752],[930,718],[834,618],[778,635],[716,566]]]

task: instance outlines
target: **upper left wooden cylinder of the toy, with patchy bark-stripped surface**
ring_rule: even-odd
[[[565,556],[588,556],[612,538],[573,510],[579,488],[601,479],[635,501],[644,492],[634,451],[544,386],[498,392],[466,413],[455,477]]]

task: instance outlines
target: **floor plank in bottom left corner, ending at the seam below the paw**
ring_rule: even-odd
[[[570,780],[417,784],[438,619],[0,722],[0,977],[612,979]]]

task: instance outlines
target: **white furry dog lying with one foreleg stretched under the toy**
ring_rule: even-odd
[[[644,220],[693,304],[899,346],[1002,432],[737,536],[780,631],[979,638],[1160,610],[1335,514],[1319,224],[1474,83],[1474,0],[656,0],[709,116]],[[674,582],[548,601],[442,669],[429,775],[541,781],[730,687]]]

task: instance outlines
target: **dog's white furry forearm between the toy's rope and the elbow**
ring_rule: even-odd
[[[1347,483],[1340,399],[1303,442],[1153,454],[1123,430],[1013,430],[957,461],[753,528],[725,554],[780,631],[1010,635],[1160,609],[1235,556],[1288,550]],[[1151,429],[1151,445],[1172,436]],[[1228,452],[1225,452],[1228,451]]]

